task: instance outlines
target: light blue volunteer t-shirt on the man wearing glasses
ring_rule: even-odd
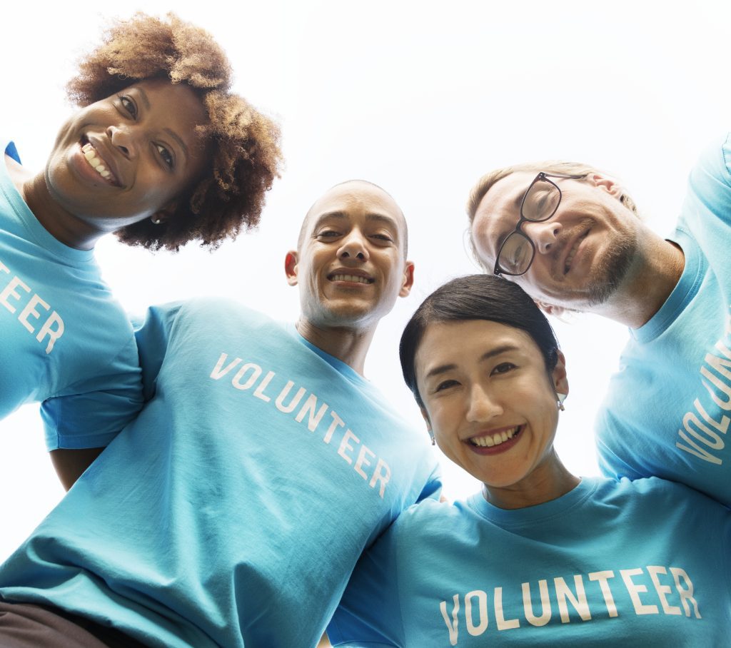
[[[677,229],[685,269],[622,352],[596,419],[607,476],[656,475],[731,506],[731,137],[689,178]]]

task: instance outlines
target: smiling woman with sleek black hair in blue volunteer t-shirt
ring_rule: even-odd
[[[352,577],[333,645],[727,644],[731,514],[672,482],[564,467],[564,355],[517,284],[450,281],[400,353],[428,430],[482,492],[401,514]]]

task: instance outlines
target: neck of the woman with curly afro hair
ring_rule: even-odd
[[[45,173],[34,175],[18,189],[38,222],[69,248],[91,250],[96,240],[105,234],[58,205],[50,195]]]

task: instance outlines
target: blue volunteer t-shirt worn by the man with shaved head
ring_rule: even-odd
[[[0,568],[150,647],[308,648],[357,558],[439,489],[422,432],[351,367],[224,300],[151,308],[151,400]]]

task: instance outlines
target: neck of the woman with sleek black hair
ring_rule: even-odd
[[[549,456],[529,475],[507,487],[493,487],[483,484],[482,494],[498,508],[526,508],[537,506],[566,495],[579,485],[581,480],[569,473],[556,451],[551,448]]]

